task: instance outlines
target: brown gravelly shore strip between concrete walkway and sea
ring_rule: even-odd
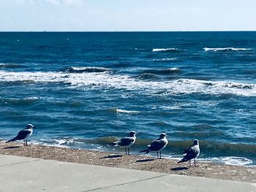
[[[2,141],[0,141],[0,154],[256,183],[256,167],[249,166],[197,161],[198,166],[189,167],[188,162],[177,164],[176,160],[169,158],[157,159],[145,155],[124,155],[124,153],[45,145],[29,144],[28,147],[24,147],[21,142],[5,143]]]

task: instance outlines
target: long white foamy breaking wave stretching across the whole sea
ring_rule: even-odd
[[[176,71],[178,69],[175,69]],[[173,72],[168,69],[155,71],[157,74]],[[64,83],[70,88],[113,89],[144,91],[148,95],[177,95],[177,94],[234,94],[237,96],[256,96],[256,84],[178,79],[168,81],[144,81],[129,75],[109,73],[65,73],[65,72],[5,72],[0,71],[0,82],[28,83]]]

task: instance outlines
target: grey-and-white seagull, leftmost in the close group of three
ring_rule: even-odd
[[[118,140],[117,142],[110,143],[109,145],[111,146],[119,146],[119,147],[124,147],[125,154],[129,155],[129,147],[131,147],[136,140],[136,136],[138,136],[135,131],[130,131],[129,132],[129,137],[124,137]]]

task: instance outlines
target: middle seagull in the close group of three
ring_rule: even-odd
[[[164,134],[164,133],[160,134],[158,139],[154,139],[154,141],[148,145],[147,150],[142,150],[140,151],[140,153],[146,152],[145,154],[147,154],[151,151],[154,151],[154,152],[157,152],[157,158],[158,158],[158,153],[160,152],[160,158],[161,158],[161,151],[166,147],[168,143],[166,137],[169,137],[169,136],[167,136],[167,134]]]

